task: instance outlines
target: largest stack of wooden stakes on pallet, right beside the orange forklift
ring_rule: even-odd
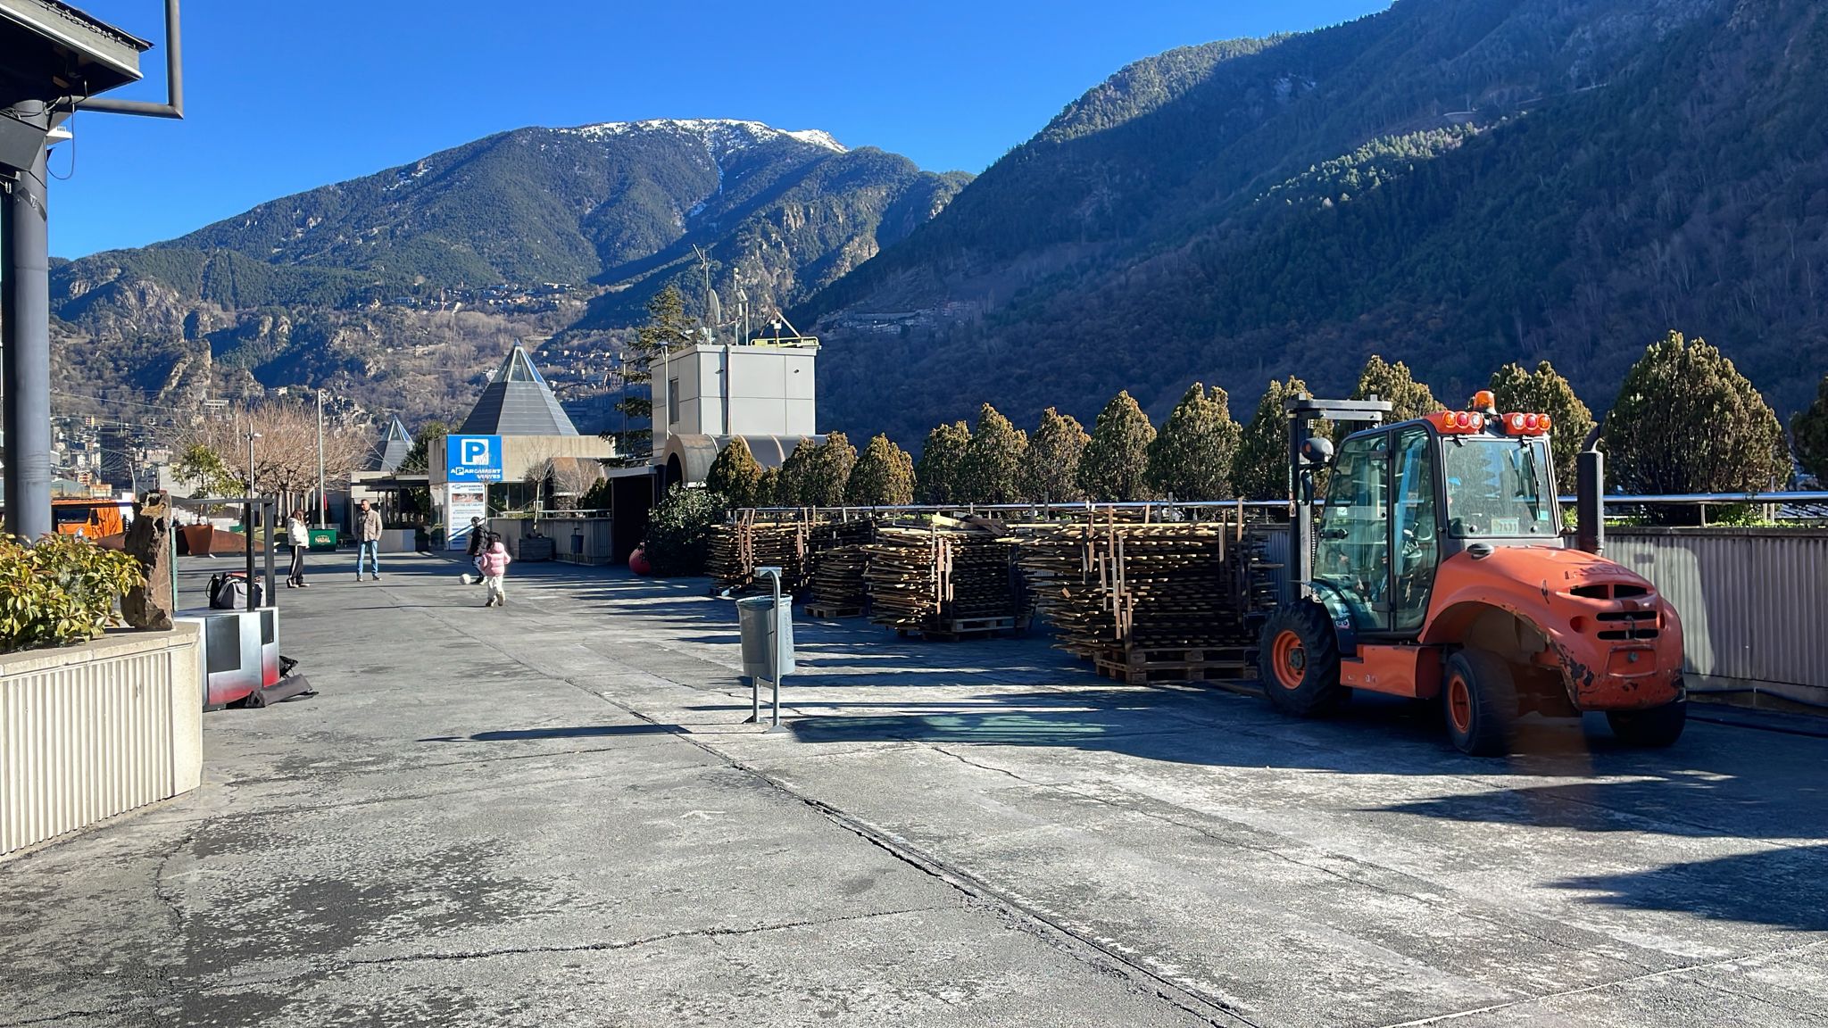
[[[1249,677],[1274,605],[1274,569],[1241,516],[1058,527],[1022,547],[1022,569],[1057,646],[1132,684]]]

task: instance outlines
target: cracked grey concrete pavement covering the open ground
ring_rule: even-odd
[[[210,562],[186,565],[197,587]],[[322,695],[0,863],[0,1024],[1821,1024],[1828,739],[1291,723],[1044,640],[801,624],[742,724],[702,582],[280,591]]]

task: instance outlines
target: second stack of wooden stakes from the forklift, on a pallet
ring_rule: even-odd
[[[1016,538],[991,523],[879,527],[865,547],[870,620],[938,638],[1018,626]]]

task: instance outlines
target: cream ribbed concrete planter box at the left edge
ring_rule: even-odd
[[[197,788],[201,633],[0,655],[0,858]]]

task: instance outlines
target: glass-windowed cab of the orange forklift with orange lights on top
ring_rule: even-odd
[[[1442,412],[1340,443],[1314,516],[1311,576],[1336,629],[1413,638],[1442,560],[1563,545],[1546,419],[1514,417],[1515,432],[1503,417]]]

